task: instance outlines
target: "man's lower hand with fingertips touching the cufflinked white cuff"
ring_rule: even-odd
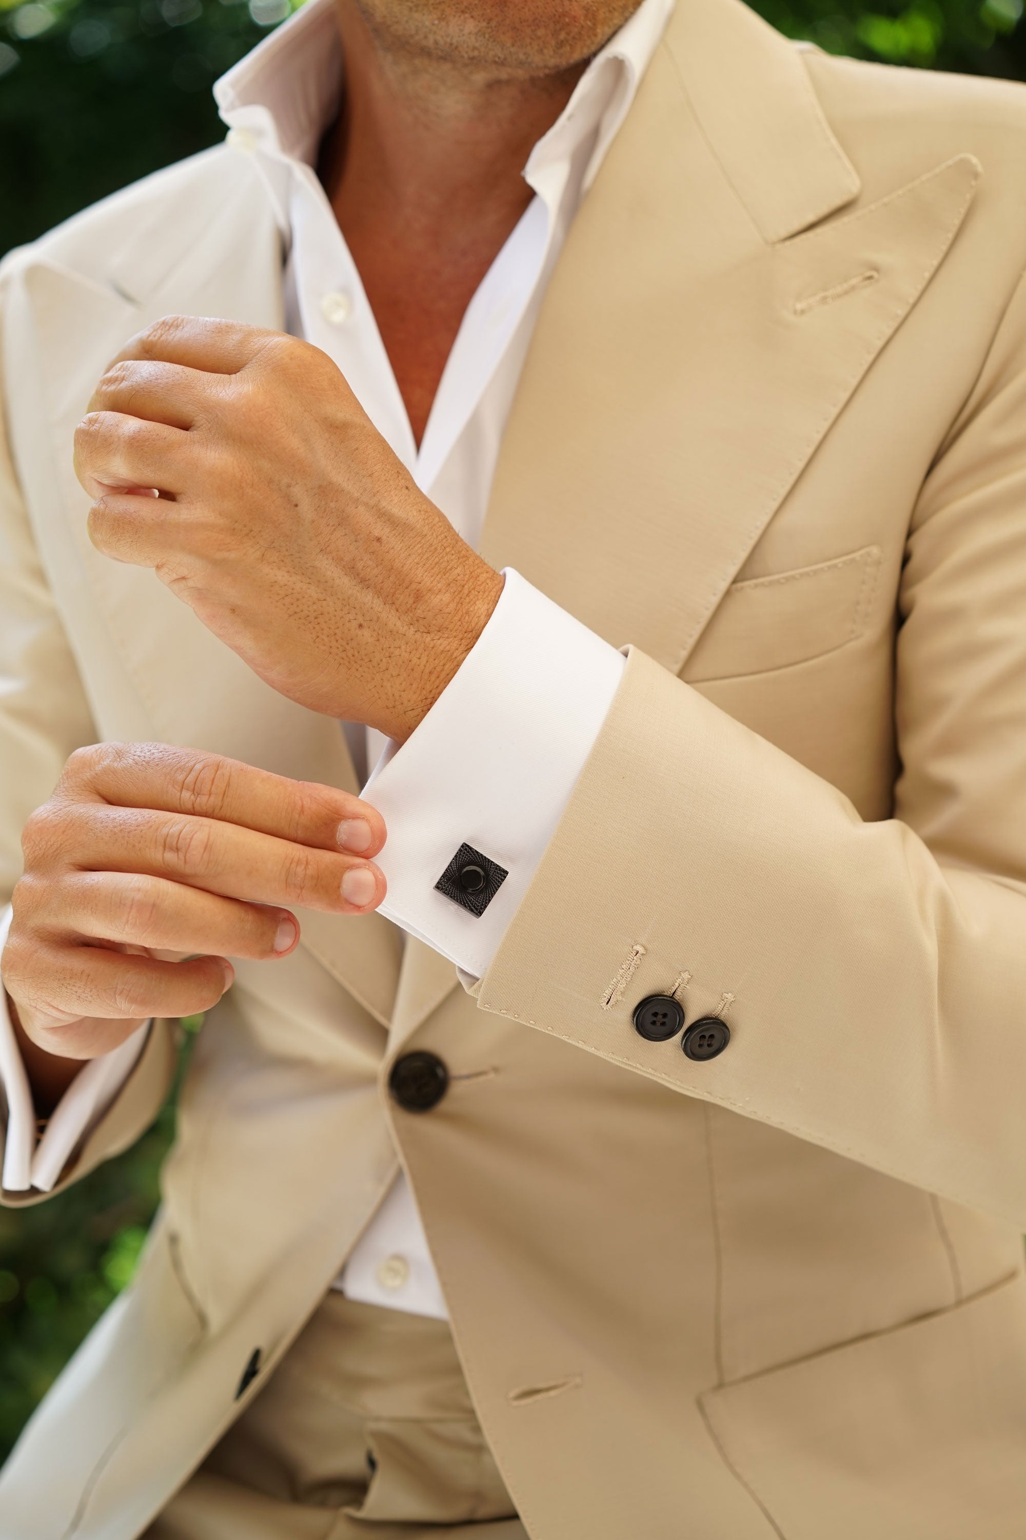
[[[366,802],[165,744],[77,750],[22,844],[0,972],[45,1101],[148,1016],[209,1010],[229,956],[286,956],[289,906],[363,915],[385,898]]]

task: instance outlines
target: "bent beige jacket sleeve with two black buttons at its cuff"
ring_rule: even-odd
[[[908,533],[894,818],[632,653],[478,1004],[1026,1227],[1026,291]],[[645,1041],[683,973],[725,1052]]]

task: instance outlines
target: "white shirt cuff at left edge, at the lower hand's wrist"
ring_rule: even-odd
[[[0,915],[0,949],[9,927],[8,906]],[[149,1023],[145,1023],[111,1053],[89,1060],[54,1107],[37,1143],[32,1092],[8,1013],[8,998],[0,987],[0,1087],[8,1104],[0,1183],[6,1192],[28,1192],[29,1187],[49,1192],[57,1184],[75,1146],[100,1121],[134,1070],[148,1032]]]

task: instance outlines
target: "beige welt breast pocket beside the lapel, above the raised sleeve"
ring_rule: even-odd
[[[685,667],[701,684],[820,658],[861,636],[880,576],[880,547],[732,584]]]

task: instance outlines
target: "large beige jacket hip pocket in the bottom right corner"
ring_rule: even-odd
[[[1023,1275],[894,1331],[700,1398],[783,1540],[1018,1540]]]

